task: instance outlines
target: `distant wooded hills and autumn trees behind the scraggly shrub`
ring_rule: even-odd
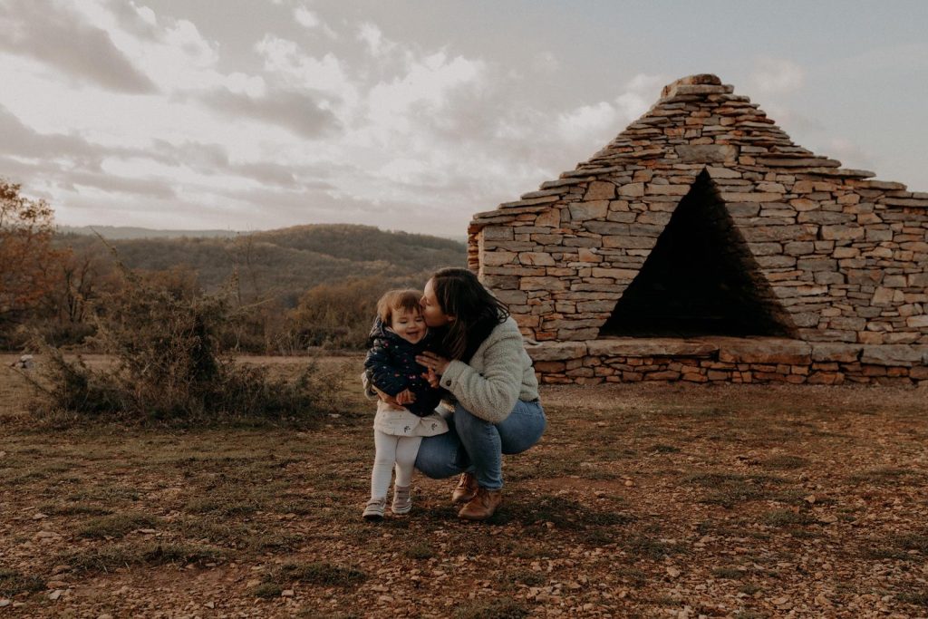
[[[231,238],[110,239],[58,234],[60,260],[28,315],[0,321],[0,345],[41,332],[57,345],[93,347],[95,325],[126,269],[173,294],[227,294],[240,319],[226,349],[293,354],[364,346],[384,290],[421,288],[436,268],[466,262],[462,243],[373,226],[315,225]]]

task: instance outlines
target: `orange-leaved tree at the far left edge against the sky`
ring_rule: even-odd
[[[52,246],[55,212],[0,179],[0,331],[40,303],[59,277],[62,251]]]

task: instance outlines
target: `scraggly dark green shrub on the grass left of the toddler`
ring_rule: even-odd
[[[79,357],[36,342],[47,361],[45,383],[33,381],[39,413],[73,412],[115,419],[222,417],[312,419],[337,404],[340,378],[308,363],[293,380],[268,368],[218,355],[216,334],[238,319],[228,294],[197,295],[160,278],[122,269],[124,285],[97,311],[97,349],[112,358],[91,368]]]

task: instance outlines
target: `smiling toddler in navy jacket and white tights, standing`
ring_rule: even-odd
[[[370,350],[364,362],[367,386],[392,396],[399,406],[378,400],[374,417],[374,469],[370,474],[370,500],[364,509],[367,520],[383,518],[387,488],[395,466],[394,514],[412,509],[409,484],[423,436],[448,431],[445,419],[435,412],[441,391],[422,377],[425,368],[416,355],[429,348],[432,337],[419,308],[418,290],[390,290],[377,303],[377,319],[370,332]]]

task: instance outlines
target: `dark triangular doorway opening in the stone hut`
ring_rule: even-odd
[[[702,172],[599,331],[600,337],[792,337],[709,175]]]

